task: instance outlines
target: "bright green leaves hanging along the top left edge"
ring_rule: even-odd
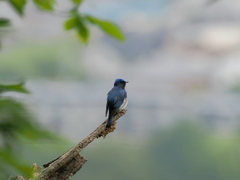
[[[84,15],[80,13],[79,8],[82,0],[69,0],[72,2],[72,8],[67,11],[69,14],[68,19],[64,23],[64,28],[66,30],[74,29],[77,33],[77,37],[87,44],[90,37],[89,25],[93,24],[98,26],[107,35],[123,41],[125,39],[124,34],[118,26],[113,22],[102,20],[97,17],[92,17],[90,15]],[[24,9],[28,1],[26,0],[9,0],[7,1],[13,9],[20,15],[24,15]],[[54,7],[57,4],[55,0],[33,0],[34,4],[42,11],[54,11]],[[0,2],[1,3],[1,2]],[[0,18],[0,27],[7,26],[10,24],[10,20],[7,18]]]

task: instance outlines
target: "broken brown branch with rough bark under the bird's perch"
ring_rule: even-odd
[[[79,171],[82,166],[87,162],[87,159],[82,157],[79,153],[96,138],[105,138],[108,133],[116,129],[116,121],[127,112],[126,109],[119,110],[113,117],[113,124],[109,129],[106,129],[105,120],[86,138],[80,141],[77,145],[69,149],[66,153],[49,163],[43,165],[44,169],[40,172],[37,171],[34,175],[39,180],[66,180]],[[38,169],[35,167],[33,169]],[[19,178],[21,176],[18,176]],[[19,179],[20,180],[20,179]]]

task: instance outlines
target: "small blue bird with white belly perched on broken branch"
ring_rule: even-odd
[[[106,116],[108,113],[108,121],[106,128],[111,127],[114,114],[119,109],[123,109],[127,106],[127,91],[125,90],[126,83],[128,82],[123,79],[116,79],[114,87],[108,92],[106,105]]]

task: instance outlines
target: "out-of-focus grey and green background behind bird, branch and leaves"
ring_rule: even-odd
[[[68,143],[31,142],[29,165],[56,158],[105,120],[107,92],[128,80],[128,112],[81,153],[77,179],[240,179],[240,1],[87,0],[81,12],[121,27],[118,42],[92,26],[81,44],[63,29],[70,3],[53,13],[32,3],[1,32],[0,81],[26,81],[37,121]]]

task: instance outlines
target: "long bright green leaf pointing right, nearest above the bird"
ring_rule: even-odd
[[[106,21],[106,20],[102,20],[93,16],[89,16],[86,15],[84,16],[90,23],[98,25],[105,33],[107,33],[108,35],[120,40],[120,41],[124,41],[125,40],[125,36],[122,33],[122,31],[119,29],[119,27],[117,25],[115,25],[113,22],[111,21]]]

